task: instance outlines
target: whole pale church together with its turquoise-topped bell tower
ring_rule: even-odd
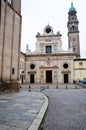
[[[20,81],[25,83],[73,83],[74,59],[80,57],[77,12],[73,3],[68,12],[68,50],[62,49],[61,34],[47,25],[43,34],[37,33],[36,49],[25,56],[25,69],[20,71]],[[21,61],[21,59],[20,59]],[[24,76],[24,77],[23,77]],[[22,79],[21,79],[22,77]]]

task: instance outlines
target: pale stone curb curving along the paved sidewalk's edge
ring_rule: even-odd
[[[31,126],[28,128],[28,130],[38,130],[39,129],[41,122],[43,120],[44,114],[45,114],[47,107],[48,107],[48,98],[45,95],[44,95],[44,98],[45,98],[45,102],[44,102],[41,110],[39,111],[37,117],[35,118],[35,120],[31,124]]]

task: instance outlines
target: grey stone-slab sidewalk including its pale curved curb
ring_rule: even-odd
[[[47,106],[40,92],[0,95],[0,130],[38,130]]]

